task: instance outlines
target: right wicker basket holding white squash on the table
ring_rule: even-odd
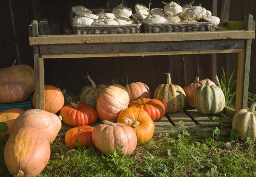
[[[177,22],[177,23],[144,23],[143,20],[134,14],[142,23],[143,33],[165,33],[165,32],[190,32],[190,31],[211,31],[212,22],[201,19],[198,22]]]

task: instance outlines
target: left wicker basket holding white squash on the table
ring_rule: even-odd
[[[100,12],[100,9],[90,9],[93,14]],[[111,9],[104,9],[105,12],[112,13]],[[73,11],[70,10],[70,25],[73,34],[126,34],[126,33],[140,33],[142,23],[134,16],[131,15],[130,19],[134,20],[136,24],[131,25],[75,25],[73,22]]]

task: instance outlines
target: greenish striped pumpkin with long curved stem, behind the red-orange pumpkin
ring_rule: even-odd
[[[99,84],[96,86],[93,79],[90,78],[89,74],[87,73],[88,80],[91,82],[91,86],[85,86],[80,93],[79,101],[81,103],[85,103],[94,109],[96,109],[97,99],[99,98],[99,94],[104,90],[107,86],[103,84]]]

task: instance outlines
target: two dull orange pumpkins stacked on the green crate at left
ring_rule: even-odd
[[[34,69],[29,65],[0,68],[0,104],[26,101],[35,90]]]

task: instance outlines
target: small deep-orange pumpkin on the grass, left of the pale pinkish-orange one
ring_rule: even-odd
[[[72,147],[73,149],[77,149],[78,146],[76,144],[76,140],[79,143],[83,144],[85,147],[89,147],[93,144],[92,132],[94,127],[88,125],[76,126],[67,130],[65,135],[65,143]]]

